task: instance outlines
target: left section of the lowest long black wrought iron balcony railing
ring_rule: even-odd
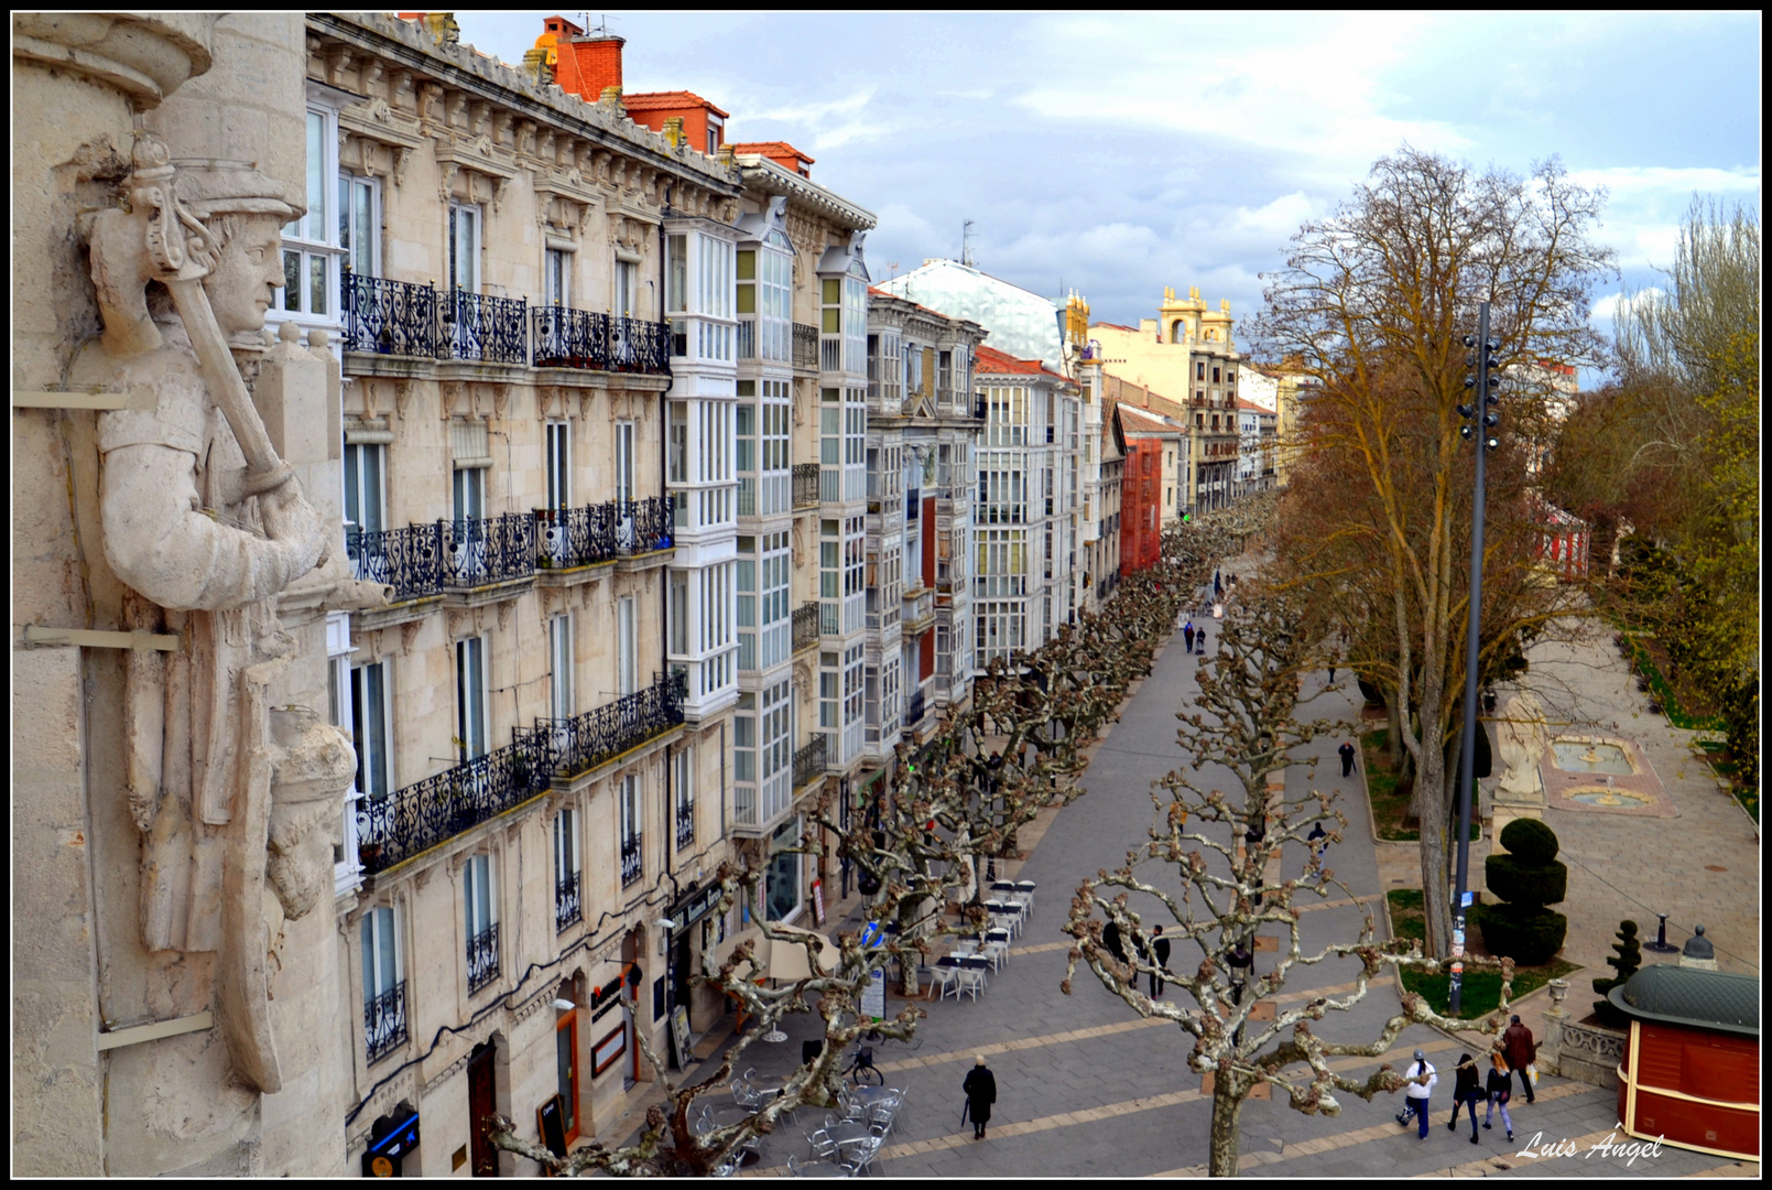
[[[548,789],[548,759],[533,741],[517,740],[385,798],[358,802],[356,837],[363,871],[383,873],[528,802]]]

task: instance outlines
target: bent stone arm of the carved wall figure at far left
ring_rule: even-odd
[[[314,569],[323,537],[271,541],[200,511],[193,465],[186,450],[156,443],[106,456],[105,553],[119,578],[167,608],[222,610]]]

